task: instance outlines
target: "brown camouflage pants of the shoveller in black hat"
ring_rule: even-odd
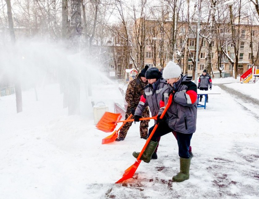
[[[125,114],[125,119],[127,119],[130,114],[131,114],[131,111],[130,111],[130,107],[127,107],[127,110],[126,110],[126,114]],[[143,118],[148,118],[149,117],[149,109],[146,108],[144,111],[143,111],[143,114],[142,114],[142,117]],[[132,116],[132,118],[134,118],[134,116]],[[140,131],[140,137],[145,137],[147,136],[147,131],[148,131],[148,122],[150,120],[142,120],[140,121],[140,126],[139,126],[139,131]],[[125,138],[126,135],[127,135],[127,132],[129,131],[130,129],[130,126],[132,125],[132,122],[127,122],[125,123],[125,125],[121,128],[120,130],[120,134],[119,134],[119,137],[121,138]]]

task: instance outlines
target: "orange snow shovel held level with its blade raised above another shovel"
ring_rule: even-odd
[[[156,117],[140,118],[139,120],[147,120],[147,119],[155,119],[155,118]],[[126,120],[120,120],[120,119],[121,119],[120,113],[105,112],[105,114],[102,116],[100,121],[97,123],[96,128],[106,133],[109,133],[115,129],[118,122],[134,122],[134,119],[126,119]]]

